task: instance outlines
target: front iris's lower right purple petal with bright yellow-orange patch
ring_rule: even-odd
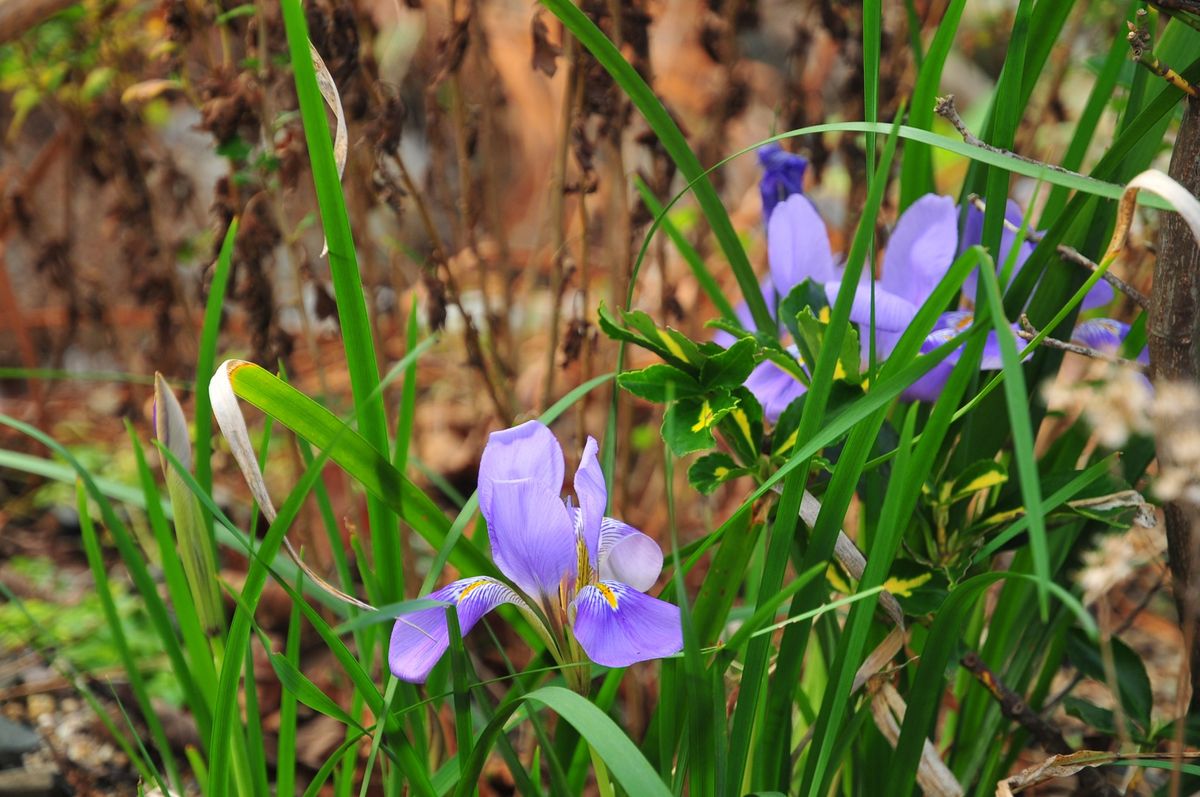
[[[683,648],[679,607],[619,581],[583,587],[575,611],[575,639],[589,659],[606,667],[628,667]]]

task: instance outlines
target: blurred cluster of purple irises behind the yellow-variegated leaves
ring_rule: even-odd
[[[763,217],[767,224],[767,259],[769,274],[762,281],[763,299],[775,312],[780,298],[804,280],[823,284],[830,304],[841,288],[841,269],[829,246],[829,234],[824,221],[812,202],[804,196],[804,172],[808,161],[785,152],[778,144],[769,144],[758,151],[763,168],[761,182]],[[887,358],[900,336],[912,323],[920,306],[929,299],[954,259],[983,238],[983,212],[968,205],[965,222],[960,227],[960,210],[950,197],[925,194],[900,215],[895,229],[883,253],[882,274],[874,284],[875,352],[880,359]],[[1001,239],[997,263],[1004,263],[1018,246],[1018,234],[1010,227],[1020,227],[1021,211],[1009,202],[1006,209],[1009,224]],[[1033,252],[1033,244],[1022,240],[1015,252],[1014,275]],[[970,307],[976,296],[978,272],[972,272],[962,288],[964,306]],[[868,330],[872,324],[872,286],[870,275],[864,275],[857,286],[850,319]],[[1108,283],[1098,283],[1087,295],[1084,308],[1108,305],[1112,289]],[[749,324],[749,313],[738,308],[743,324]],[[971,325],[971,310],[942,313],[922,343],[922,353],[930,352],[954,338]],[[749,328],[749,326],[748,326]],[[782,328],[781,328],[782,334]],[[1073,337],[1090,341],[1090,346],[1105,350],[1120,349],[1129,328],[1111,319],[1096,319],[1081,324]],[[720,332],[716,342],[728,344],[732,336]],[[865,347],[864,347],[865,348]],[[794,349],[793,349],[794,352]],[[953,352],[932,371],[905,391],[910,401],[932,401],[941,394],[950,370],[958,362],[960,352]],[[803,365],[803,364],[802,364]],[[998,368],[1000,341],[996,332],[989,335],[984,346],[980,368]],[[773,362],[763,362],[755,368],[746,386],[762,403],[768,420],[778,420],[784,409],[805,391],[805,385]]]

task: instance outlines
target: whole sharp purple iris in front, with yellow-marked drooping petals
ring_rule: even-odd
[[[467,634],[500,604],[520,609],[559,663],[608,667],[672,655],[683,647],[679,607],[646,593],[662,570],[658,543],[605,517],[608,501],[599,447],[588,437],[563,501],[563,450],[550,429],[528,421],[492,432],[479,466],[479,507],[492,558],[508,582],[460,579],[428,595],[452,604]],[[449,647],[444,607],[403,615],[388,664],[401,681],[422,683]]]

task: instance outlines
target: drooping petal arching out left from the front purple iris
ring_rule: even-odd
[[[431,593],[431,600],[442,600],[458,612],[458,630],[467,635],[479,618],[500,604],[524,606],[524,601],[508,586],[494,579],[460,579]],[[446,609],[433,606],[396,618],[388,646],[388,666],[394,676],[409,683],[424,683],[430,670],[450,647]]]

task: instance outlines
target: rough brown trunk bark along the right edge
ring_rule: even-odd
[[[1180,124],[1170,175],[1193,194],[1200,193],[1200,102],[1188,100]],[[1154,290],[1146,325],[1151,371],[1156,379],[1198,382],[1200,374],[1200,313],[1196,312],[1200,283],[1200,247],[1178,214],[1164,214],[1154,265]],[[1174,580],[1175,603],[1184,640],[1190,641],[1188,660],[1192,676],[1192,709],[1200,709],[1200,634],[1188,627],[1198,616],[1200,557],[1193,533],[1193,507],[1169,503],[1166,515],[1168,556]]]

